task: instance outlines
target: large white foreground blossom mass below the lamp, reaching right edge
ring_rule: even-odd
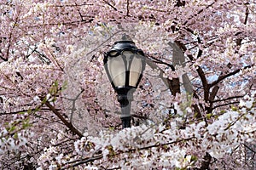
[[[84,137],[74,143],[77,160],[69,161],[69,166],[76,166],[72,162],[88,158],[93,160],[91,168],[188,168],[199,167],[206,153],[217,160],[222,159],[236,152],[240,144],[256,142],[254,98],[255,94],[247,95],[239,108],[221,115],[214,113],[216,120],[212,123],[190,122],[181,127],[184,120],[174,118],[165,125],[143,125],[119,132],[103,130],[96,137],[84,133]],[[47,150],[55,149],[49,147]],[[70,156],[55,153],[55,157],[67,160]],[[68,161],[63,162],[68,164]]]

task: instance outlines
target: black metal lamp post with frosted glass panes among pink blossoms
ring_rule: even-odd
[[[121,106],[122,127],[131,127],[131,100],[143,77],[145,59],[143,50],[136,47],[130,37],[114,42],[104,56],[104,67]]]

